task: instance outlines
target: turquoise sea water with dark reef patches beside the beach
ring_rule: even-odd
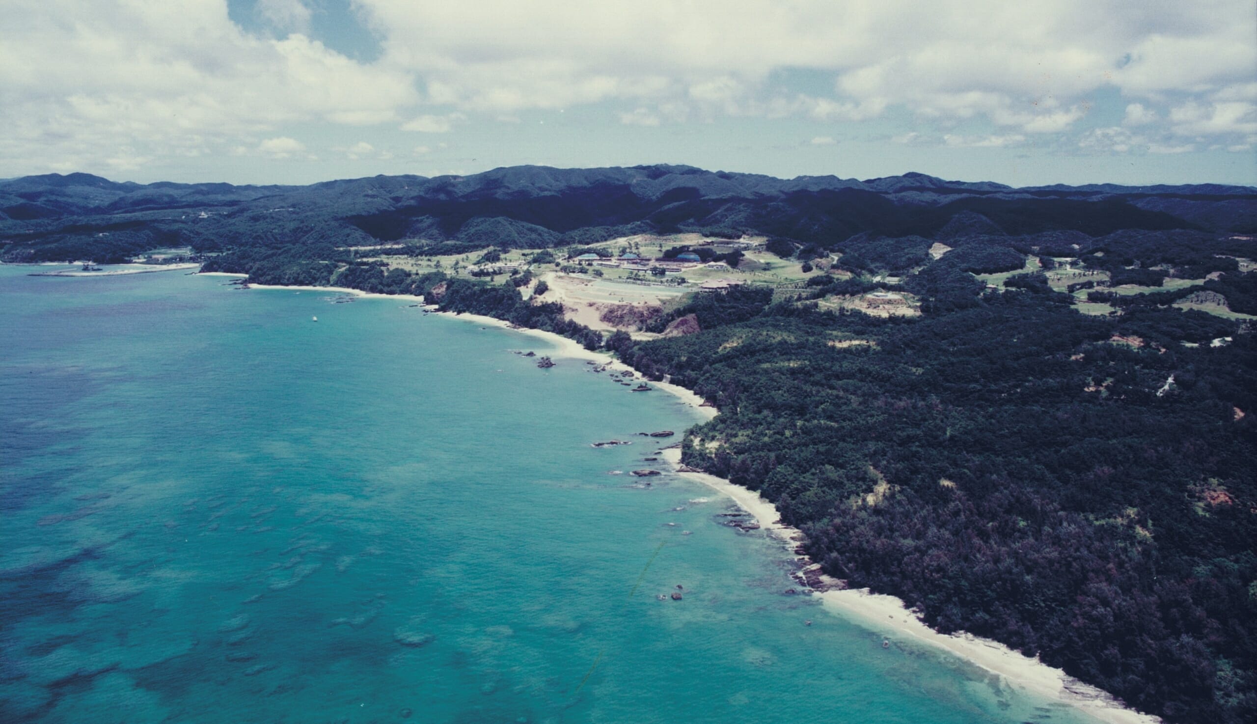
[[[709,489],[608,474],[694,412],[512,353],[535,338],[28,272],[0,266],[0,720],[1081,720],[784,595]]]

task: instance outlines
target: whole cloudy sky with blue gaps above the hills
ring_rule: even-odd
[[[0,0],[0,177],[1257,185],[1253,0]]]

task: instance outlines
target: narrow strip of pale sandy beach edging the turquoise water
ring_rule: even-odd
[[[211,273],[225,277],[245,277],[244,274]],[[422,297],[410,294],[373,294],[357,289],[342,287],[285,287],[268,284],[250,284],[251,289],[294,289],[309,292],[336,292],[352,294],[362,298],[382,299],[410,299],[424,300]],[[427,309],[435,308],[429,305]],[[450,318],[464,319],[485,327],[497,327],[527,334],[539,341],[549,343],[554,349],[552,356],[569,359],[596,361],[606,365],[610,370],[632,371],[636,370],[606,352],[590,351],[577,341],[553,332],[542,329],[529,329],[515,327],[503,319],[486,317],[483,314],[435,312]],[[675,396],[683,403],[698,411],[704,421],[714,419],[719,411],[715,407],[700,406],[704,400],[691,390],[672,385],[670,382],[650,382],[655,388],[662,390]],[[734,485],[723,478],[708,473],[681,471],[680,447],[670,447],[662,451],[662,458],[674,466],[676,474],[700,483],[716,493],[732,499],[739,508],[755,518],[760,529],[778,538],[787,549],[787,554],[794,556],[803,568],[817,568],[815,562],[806,556],[793,553],[794,546],[803,539],[803,533],[797,528],[781,522],[777,507],[764,499],[758,491]],[[828,576],[821,578],[832,586],[841,583]],[[998,641],[982,639],[970,634],[940,634],[925,625],[914,612],[909,611],[904,602],[889,595],[872,593],[867,588],[832,588],[820,591],[822,606],[831,613],[846,618],[864,628],[887,636],[889,640],[915,641],[935,649],[947,651],[964,661],[968,661],[996,676],[1002,684],[1013,690],[1028,693],[1050,700],[1066,704],[1097,721],[1106,724],[1160,724],[1161,719],[1151,714],[1143,714],[1123,705],[1107,691],[1085,684],[1065,671],[1043,664],[1037,657],[1029,657],[1019,651],[1014,651]]]

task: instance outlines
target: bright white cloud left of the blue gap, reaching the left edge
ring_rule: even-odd
[[[0,24],[0,166],[19,172],[131,170],[289,123],[391,121],[419,99],[409,72],[245,34],[222,0],[10,0]]]

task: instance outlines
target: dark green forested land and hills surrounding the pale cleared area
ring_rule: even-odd
[[[0,182],[8,261],[190,248],[205,270],[424,294],[615,352],[719,407],[686,434],[684,461],[762,491],[828,573],[1170,721],[1210,724],[1257,719],[1254,231],[1257,190],[1217,185],[684,166],[304,187]],[[695,295],[646,329],[689,319],[694,333],[635,339],[572,322],[538,288],[529,298],[529,273],[498,283],[388,261],[525,249],[558,264],[679,233],[758,235],[776,258],[832,264],[789,289]],[[1062,268],[1067,287],[1050,278]],[[833,304],[891,292],[920,313]]]

